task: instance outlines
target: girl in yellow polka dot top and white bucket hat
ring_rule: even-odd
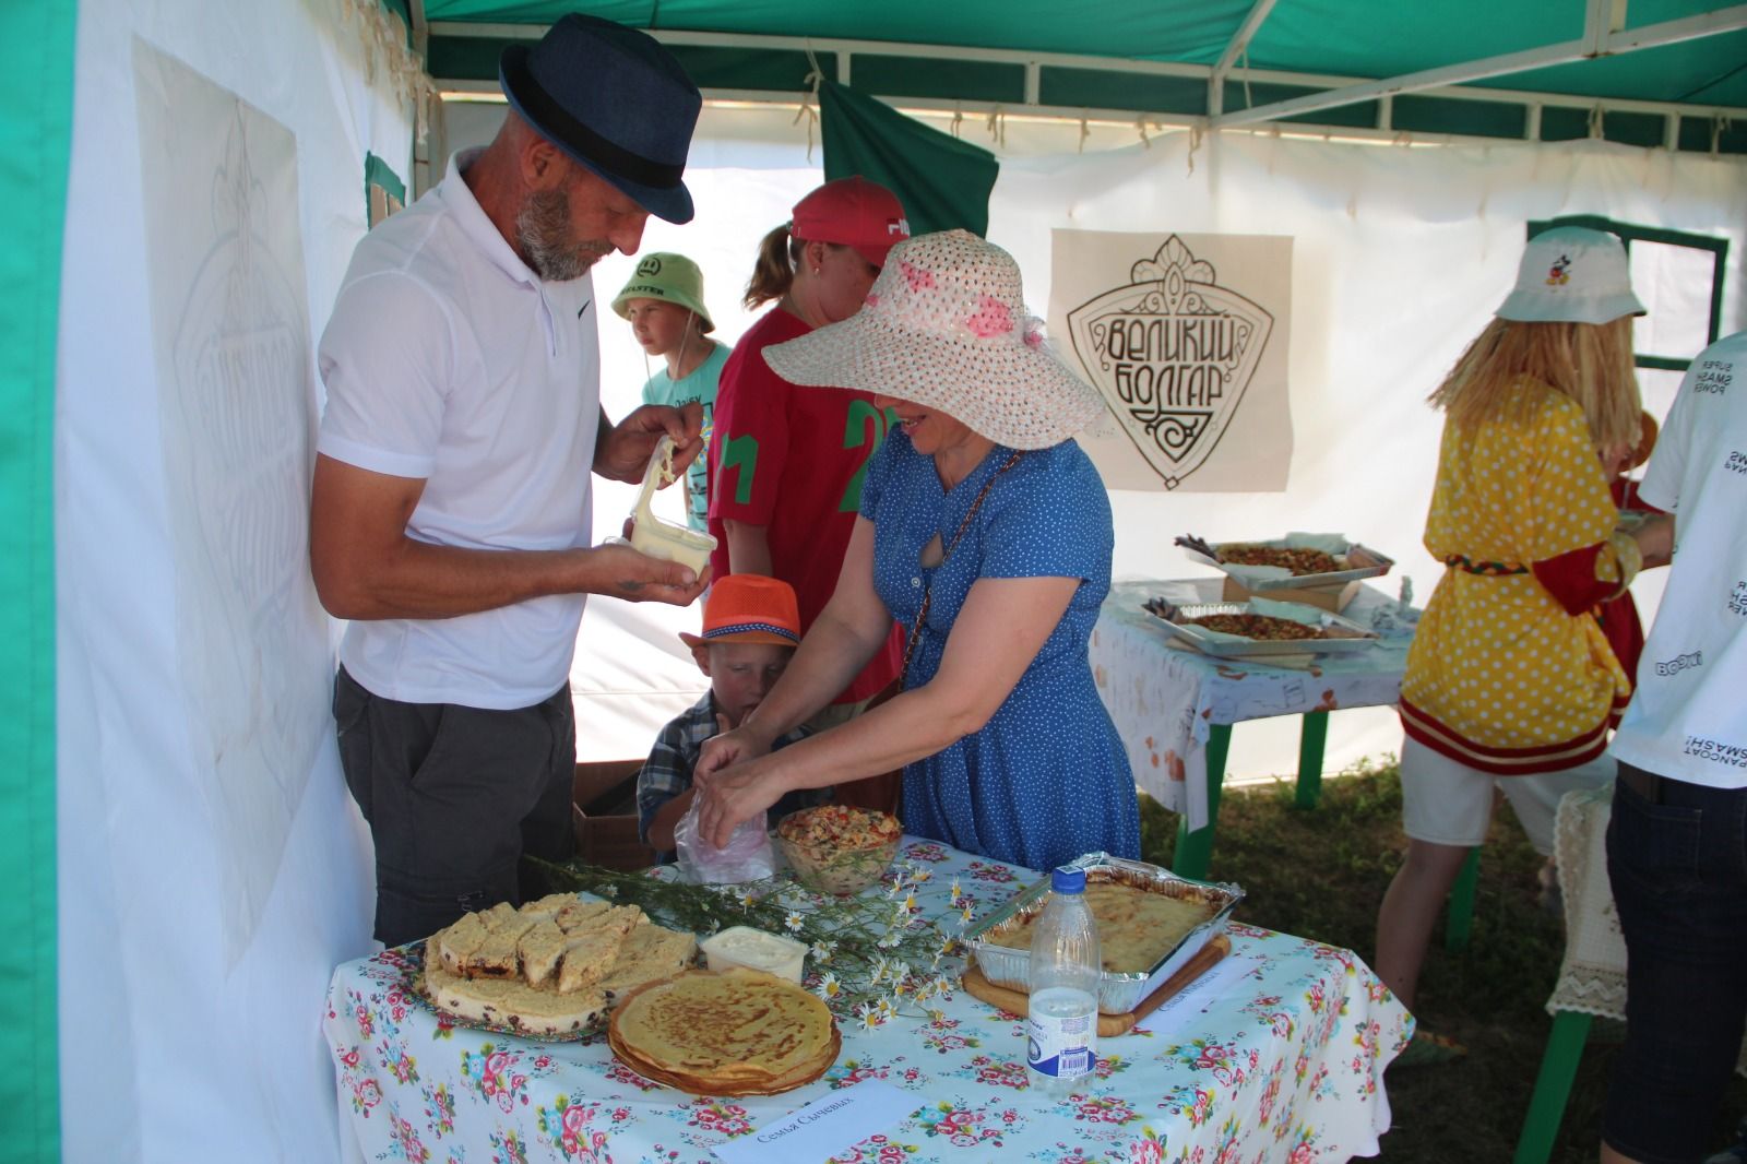
[[[1408,856],[1377,918],[1377,972],[1410,1008],[1438,909],[1485,839],[1494,786],[1551,853],[1558,797],[1611,776],[1602,752],[1632,687],[1592,612],[1642,565],[1616,530],[1602,470],[1639,437],[1632,316],[1642,313],[1618,238],[1546,231],[1431,397],[1447,421],[1426,549],[1445,573],[1401,683]],[[1452,1049],[1419,1042],[1405,1061]]]

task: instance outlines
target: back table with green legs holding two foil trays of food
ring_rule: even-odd
[[[1303,715],[1314,804],[1328,713],[1396,703],[1419,613],[1380,589],[1389,558],[1338,535],[1179,544],[1219,575],[1115,582],[1090,661],[1136,783],[1183,814],[1177,872],[1204,876],[1232,725]]]

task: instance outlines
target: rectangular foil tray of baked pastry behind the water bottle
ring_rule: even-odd
[[[1109,853],[1087,853],[1069,867],[1087,872],[1087,902],[1099,923],[1102,1014],[1132,1012],[1223,933],[1244,900],[1235,884],[1191,881]],[[1031,925],[1048,898],[1050,877],[1043,877],[964,932],[977,970],[989,982],[1031,987]]]

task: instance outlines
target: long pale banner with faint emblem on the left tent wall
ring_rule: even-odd
[[[133,65],[175,641],[236,963],[332,724],[327,615],[299,503],[314,391],[297,140],[143,40]]]

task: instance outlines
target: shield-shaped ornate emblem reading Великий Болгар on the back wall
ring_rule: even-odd
[[[1176,234],[1130,278],[1069,311],[1067,332],[1123,433],[1176,489],[1237,414],[1274,316],[1219,287]]]

